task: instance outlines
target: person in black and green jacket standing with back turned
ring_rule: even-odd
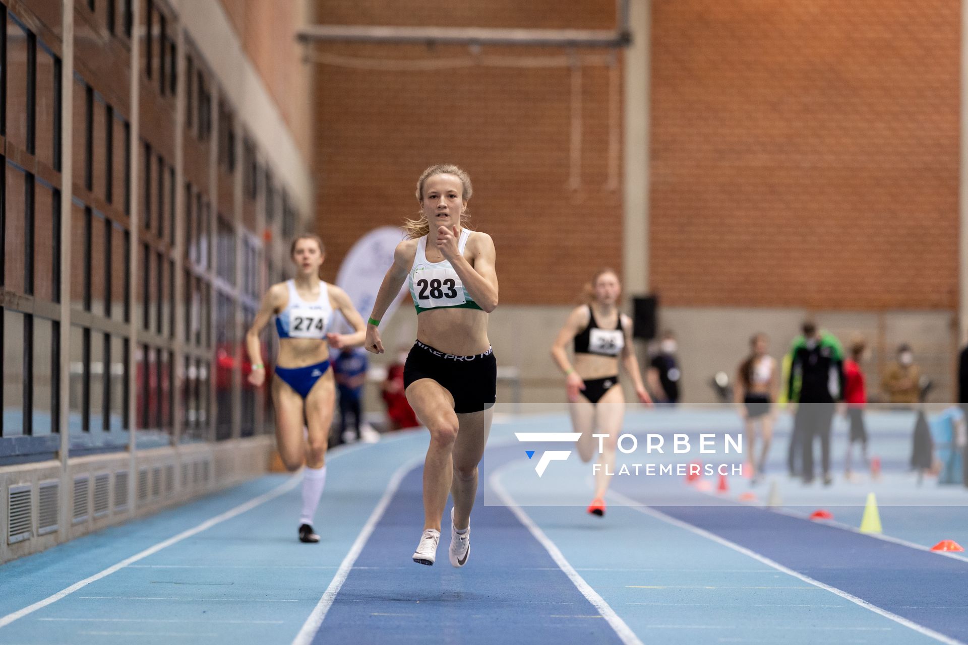
[[[802,453],[803,484],[813,482],[813,444],[820,438],[820,454],[824,485],[833,483],[831,477],[831,423],[834,401],[844,391],[843,349],[840,341],[829,332],[822,332],[815,323],[802,325],[803,335],[794,339],[791,349],[790,376],[787,380],[787,399],[796,404],[793,435],[787,464],[790,474],[796,475],[798,451]]]

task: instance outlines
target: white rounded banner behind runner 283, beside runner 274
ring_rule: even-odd
[[[337,286],[349,294],[353,307],[360,312],[366,321],[377,300],[379,285],[386,276],[387,270],[393,264],[393,251],[404,239],[404,231],[396,226],[381,226],[370,231],[349,249],[347,256],[340,265],[340,273],[336,277]],[[400,304],[402,296],[407,293],[404,284],[400,296],[394,299],[390,308],[383,314],[389,318]],[[341,334],[351,332],[346,320],[340,318],[336,331]]]

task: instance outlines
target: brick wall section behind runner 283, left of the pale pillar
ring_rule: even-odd
[[[599,28],[613,0],[319,0],[328,24]],[[324,44],[319,51],[374,58],[448,58],[467,48]],[[557,48],[485,47],[485,54],[561,56]],[[595,52],[600,53],[600,52]],[[569,180],[571,75],[567,69],[466,68],[436,72],[319,65],[315,172],[326,279],[368,230],[417,212],[417,177],[458,163],[474,183],[472,226],[498,250],[501,302],[574,302],[601,265],[621,267],[621,192],[608,179],[609,72],[583,72],[582,183]],[[620,126],[620,124],[619,124]],[[619,151],[620,152],[620,151]]]

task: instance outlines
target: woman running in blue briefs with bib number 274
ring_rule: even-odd
[[[313,530],[313,516],[326,484],[326,446],[336,400],[329,348],[359,345],[366,331],[363,318],[353,308],[346,291],[319,279],[324,251],[318,236],[297,237],[292,241],[289,255],[296,265],[296,278],[269,288],[246,334],[246,348],[252,362],[249,382],[256,387],[265,382],[258,334],[275,315],[279,333],[279,358],[276,378],[272,380],[276,446],[290,471],[298,469],[305,460],[299,541],[319,542]],[[355,330],[353,334],[326,333],[334,310],[347,319]],[[304,446],[304,420],[309,432],[308,446]]]

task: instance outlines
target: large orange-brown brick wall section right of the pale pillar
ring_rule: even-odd
[[[663,304],[955,308],[960,3],[653,0]]]

